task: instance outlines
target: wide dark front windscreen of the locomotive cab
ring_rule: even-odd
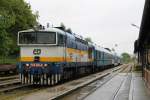
[[[19,44],[56,44],[55,32],[19,33]]]

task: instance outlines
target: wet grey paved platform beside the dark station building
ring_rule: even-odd
[[[119,73],[84,100],[150,100],[141,73]]]

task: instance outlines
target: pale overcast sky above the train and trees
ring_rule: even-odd
[[[33,12],[39,11],[39,22],[54,26],[61,22],[74,33],[91,37],[102,47],[133,53],[138,38],[145,0],[25,0]],[[115,47],[115,44],[118,47]]]

